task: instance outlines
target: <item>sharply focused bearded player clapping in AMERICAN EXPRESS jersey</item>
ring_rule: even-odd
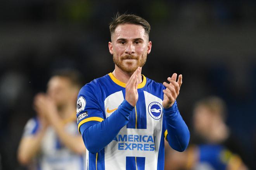
[[[110,24],[109,52],[115,69],[81,88],[78,129],[89,170],[163,170],[164,138],[184,151],[190,133],[176,98],[182,75],[156,83],[141,75],[151,51],[149,23],[136,15],[117,15]]]

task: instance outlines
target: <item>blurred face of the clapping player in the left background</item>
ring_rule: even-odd
[[[47,95],[58,107],[67,104],[72,95],[72,87],[68,78],[54,76],[48,82]]]

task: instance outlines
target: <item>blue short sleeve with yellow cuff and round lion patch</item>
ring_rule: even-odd
[[[76,117],[78,130],[80,126],[88,121],[102,122],[104,120],[103,111],[100,107],[100,90],[96,90],[92,85],[86,84],[81,88],[76,105]]]

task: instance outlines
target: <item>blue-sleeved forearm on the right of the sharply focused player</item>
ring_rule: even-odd
[[[167,140],[169,145],[177,151],[184,151],[189,145],[190,133],[180,115],[176,102],[169,109],[164,109],[164,117],[168,131]]]

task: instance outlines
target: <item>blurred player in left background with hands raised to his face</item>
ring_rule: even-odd
[[[27,122],[17,153],[22,165],[42,170],[85,168],[85,146],[74,114],[81,80],[78,71],[55,71],[47,92],[35,96],[37,116]]]

